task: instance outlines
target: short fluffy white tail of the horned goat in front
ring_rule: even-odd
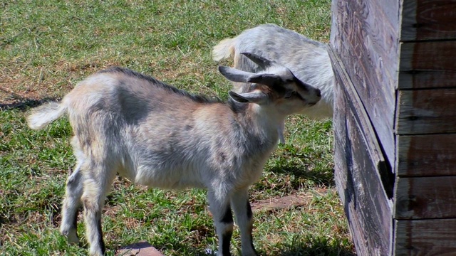
[[[31,129],[43,129],[65,113],[66,105],[63,102],[48,102],[31,110],[31,114],[26,118],[27,125]]]

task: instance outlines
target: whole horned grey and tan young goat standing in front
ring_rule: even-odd
[[[318,89],[288,69],[249,53],[265,70],[219,67],[228,80],[247,82],[227,102],[208,100],[124,68],[102,70],[80,82],[61,102],[32,110],[27,122],[41,129],[68,114],[76,168],[68,176],[61,233],[78,243],[83,206],[90,255],[103,255],[101,213],[116,174],[135,183],[182,189],[207,188],[219,237],[218,254],[230,255],[232,210],[242,255],[256,255],[248,188],[261,176],[276,146],[276,127],[289,114],[320,100]],[[268,65],[266,67],[266,65]]]

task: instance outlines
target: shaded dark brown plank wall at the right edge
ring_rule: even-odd
[[[403,1],[395,255],[456,252],[456,1]]]

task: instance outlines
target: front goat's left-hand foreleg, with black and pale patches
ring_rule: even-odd
[[[209,210],[214,219],[215,230],[219,238],[219,248],[217,256],[231,256],[229,252],[229,244],[233,234],[233,215],[229,206],[228,196],[219,196],[213,192],[207,192],[207,201],[209,202]]]

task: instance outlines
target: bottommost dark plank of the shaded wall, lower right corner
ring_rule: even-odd
[[[396,220],[394,255],[450,256],[456,252],[456,219]]]

